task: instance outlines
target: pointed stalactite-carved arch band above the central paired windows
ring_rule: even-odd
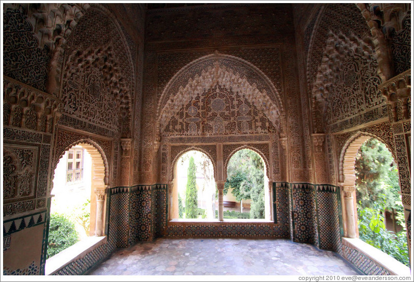
[[[238,67],[238,69],[232,67]],[[258,89],[256,83],[250,84],[248,78],[241,75],[241,73],[248,73],[248,71],[257,74],[262,80],[260,81],[261,85],[265,85],[267,90]],[[177,84],[179,81],[184,82],[184,78],[188,79],[186,84]],[[215,53],[186,65],[169,81],[158,104],[157,135],[159,136],[164,131],[171,117],[177,114],[189,101],[204,91],[216,87],[216,85],[227,89],[231,88],[232,91],[246,98],[259,111],[265,113],[276,130],[284,131],[283,122],[280,122],[284,116],[283,106],[279,93],[269,78],[261,70],[240,58]],[[222,106],[222,102],[217,100],[213,107],[215,111],[220,111],[223,109]],[[218,125],[217,130],[219,127]],[[156,137],[156,139],[158,138]]]

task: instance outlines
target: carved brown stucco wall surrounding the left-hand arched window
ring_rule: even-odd
[[[83,12],[74,5],[32,6],[12,4],[4,9],[3,162],[6,173],[3,190],[6,197],[3,226],[6,230],[6,274],[44,273],[47,197],[54,164],[60,154],[79,140],[92,140],[109,159],[106,168],[110,167],[112,171],[105,172],[105,181],[116,185],[119,181],[119,137],[129,137],[132,130],[131,97],[135,95],[136,85],[135,62],[130,50],[136,50],[136,45],[124,38],[125,30],[105,7],[99,5],[94,5],[85,18],[82,16],[89,6],[81,5],[85,8]],[[109,30],[97,26],[96,19]],[[62,20],[64,25],[59,25]],[[77,23],[80,26],[76,26]],[[53,32],[47,33],[47,30]],[[57,50],[55,40],[60,42],[59,48],[66,50],[62,57],[63,54],[54,53]],[[74,60],[68,59],[70,55]],[[65,91],[59,98],[55,96],[59,88],[51,95],[44,92],[48,85],[47,73],[54,75],[49,65],[51,57],[57,59],[64,70],[64,90],[69,89],[77,95],[70,97],[71,101]],[[70,66],[70,72],[65,69],[67,66]],[[94,71],[96,69],[98,72]],[[81,77],[68,82],[67,77],[71,78],[76,72]],[[71,103],[80,104],[75,104],[78,108],[70,112],[68,105]],[[58,120],[59,129],[56,127]],[[31,236],[29,245],[22,244],[27,241],[27,232]],[[96,260],[89,263],[94,264]]]

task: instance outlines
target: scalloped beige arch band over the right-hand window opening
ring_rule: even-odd
[[[340,172],[339,179],[340,179],[340,182],[342,182],[344,186],[355,186],[356,153],[358,152],[361,145],[370,138],[376,138],[380,142],[385,144],[386,148],[393,155],[394,160],[395,161],[397,160],[395,152],[392,150],[392,146],[388,144],[384,139],[372,133],[359,131],[348,138],[347,142],[345,143],[344,147],[341,150],[340,161],[339,161],[339,172]]]

